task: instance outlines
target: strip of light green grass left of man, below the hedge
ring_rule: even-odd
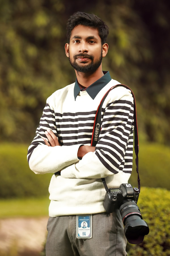
[[[1,199],[0,218],[48,216],[48,197]]]

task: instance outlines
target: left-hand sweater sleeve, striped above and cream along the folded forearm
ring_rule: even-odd
[[[46,138],[45,131],[47,129],[52,130],[58,137],[54,107],[49,103],[49,98],[43,110],[39,127],[36,130],[36,136],[28,148],[27,160],[29,167],[36,174],[55,173],[79,161],[77,152],[82,144],[48,147],[42,139],[42,137]]]

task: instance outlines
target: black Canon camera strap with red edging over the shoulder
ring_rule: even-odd
[[[133,118],[134,118],[134,149],[135,149],[135,154],[136,154],[136,159],[135,159],[135,163],[136,163],[136,172],[138,175],[137,181],[138,181],[138,189],[139,189],[139,193],[141,190],[141,185],[140,185],[140,178],[139,178],[139,169],[138,169],[138,164],[139,164],[139,159],[138,159],[138,153],[139,153],[139,140],[138,140],[138,129],[137,129],[137,115],[136,115],[136,101],[135,101],[135,95],[133,94],[132,90],[124,85],[124,84],[116,84],[114,86],[112,86],[107,92],[106,94],[103,96],[98,108],[97,108],[97,112],[95,115],[95,120],[94,120],[94,126],[93,126],[93,133],[92,133],[92,141],[91,141],[91,146],[96,146],[98,138],[99,138],[99,133],[101,131],[101,129],[98,129],[98,127],[101,127],[101,109],[103,106],[103,102],[105,100],[105,98],[107,97],[107,95],[109,94],[109,92],[114,89],[116,86],[123,86],[127,89],[129,89],[131,91],[131,94],[133,96],[133,106],[134,106],[134,113],[133,113]],[[98,131],[97,136],[95,136],[95,131]],[[106,191],[108,192],[108,187],[105,181],[105,178],[101,178],[103,185],[105,186]]]

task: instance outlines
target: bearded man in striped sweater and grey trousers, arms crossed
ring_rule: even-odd
[[[118,86],[106,97],[101,132],[92,147],[95,113],[104,94],[119,82],[102,71],[107,55],[108,26],[95,15],[77,12],[67,23],[65,53],[76,82],[48,99],[28,149],[37,174],[55,173],[49,186],[46,256],[120,256],[126,238],[119,210],[107,214],[105,188],[127,183],[132,170],[133,97]],[[76,217],[92,214],[92,238],[76,237]],[[86,234],[86,232],[84,232]]]

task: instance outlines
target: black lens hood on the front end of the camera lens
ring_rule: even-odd
[[[145,220],[141,218],[130,220],[126,222],[124,233],[129,243],[142,243],[144,236],[149,234],[149,227]]]

